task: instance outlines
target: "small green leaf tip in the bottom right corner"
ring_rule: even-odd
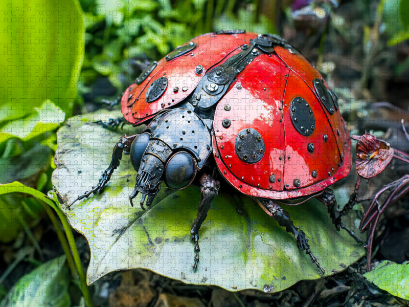
[[[402,265],[384,260],[371,272],[363,274],[365,278],[392,295],[409,300],[409,262]]]

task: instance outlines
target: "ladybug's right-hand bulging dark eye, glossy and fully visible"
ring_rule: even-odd
[[[196,176],[195,159],[186,151],[173,155],[165,168],[165,184],[175,190],[186,188]]]

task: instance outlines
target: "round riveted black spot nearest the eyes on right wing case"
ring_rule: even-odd
[[[236,138],[236,154],[245,163],[257,163],[263,158],[264,140],[257,130],[243,129]]]

